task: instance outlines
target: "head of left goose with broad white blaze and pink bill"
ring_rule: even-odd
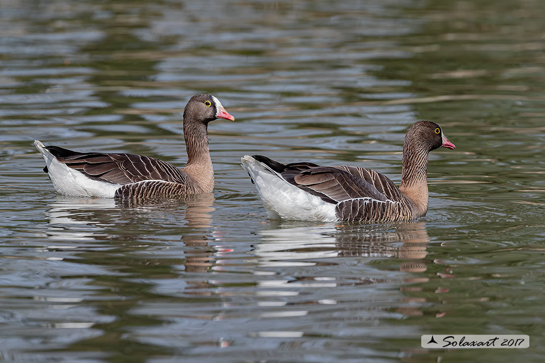
[[[187,102],[184,109],[184,122],[202,122],[207,125],[208,122],[216,119],[234,121],[235,118],[223,108],[220,100],[212,95],[198,94]]]

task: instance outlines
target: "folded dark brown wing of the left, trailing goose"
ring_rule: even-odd
[[[60,163],[91,179],[114,184],[144,180],[185,183],[187,176],[174,165],[159,159],[125,153],[77,152],[59,146],[46,146]]]

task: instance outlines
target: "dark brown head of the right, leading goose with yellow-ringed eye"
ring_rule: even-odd
[[[409,128],[405,137],[405,144],[409,143],[427,152],[439,149],[439,147],[446,147],[450,150],[456,147],[446,138],[443,130],[441,130],[441,126],[432,121],[415,122]]]

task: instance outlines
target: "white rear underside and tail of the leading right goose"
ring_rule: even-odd
[[[293,186],[267,165],[249,155],[242,159],[242,167],[256,184],[257,192],[269,216],[295,220],[335,222],[335,204]]]

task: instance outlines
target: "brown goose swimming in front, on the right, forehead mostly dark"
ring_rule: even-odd
[[[377,171],[345,165],[281,164],[244,156],[242,167],[256,184],[271,217],[334,222],[409,222],[428,210],[428,153],[452,144],[435,122],[418,121],[403,145],[399,188]]]

